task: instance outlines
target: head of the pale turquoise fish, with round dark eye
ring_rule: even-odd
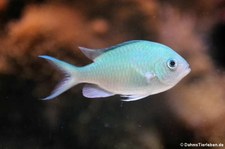
[[[169,49],[155,66],[159,81],[167,86],[176,85],[182,78],[190,73],[190,65],[178,53]]]

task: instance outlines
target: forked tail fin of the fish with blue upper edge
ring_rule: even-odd
[[[50,100],[55,98],[56,96],[62,94],[66,90],[70,89],[74,85],[78,84],[78,80],[76,78],[77,68],[71,64],[60,61],[56,58],[47,55],[40,55],[40,58],[46,59],[57,69],[61,70],[64,73],[63,80],[56,86],[56,88],[52,91],[51,95],[45,97],[43,100]]]

